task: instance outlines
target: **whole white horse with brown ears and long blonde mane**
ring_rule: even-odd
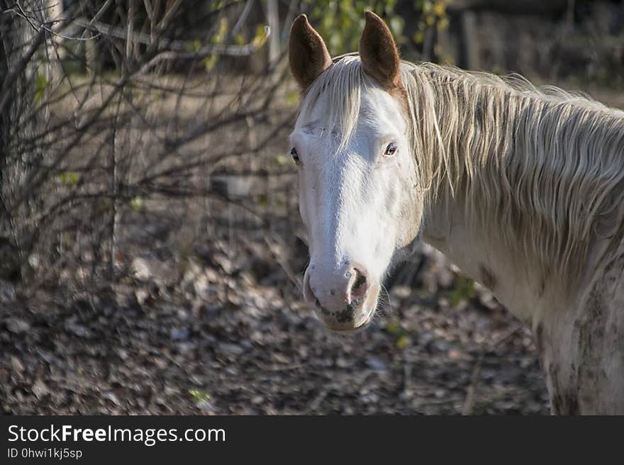
[[[364,16],[359,53],[335,58],[305,15],[291,26],[303,298],[360,331],[423,240],[530,325],[553,414],[623,414],[624,112],[403,61]]]

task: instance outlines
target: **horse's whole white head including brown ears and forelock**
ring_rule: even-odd
[[[386,271],[415,242],[423,212],[399,52],[384,21],[364,16],[359,58],[332,64],[305,15],[289,43],[291,71],[306,91],[290,137],[311,256],[303,295],[342,332],[369,323]]]

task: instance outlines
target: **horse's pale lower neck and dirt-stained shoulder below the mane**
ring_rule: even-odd
[[[552,281],[562,276],[555,272],[540,283],[522,276],[508,250],[458,220],[461,209],[434,206],[425,213],[431,219],[425,218],[423,240],[530,325],[552,412],[624,413],[624,240],[618,247],[613,240],[596,241],[588,272],[574,292],[559,297],[549,286],[557,289]]]

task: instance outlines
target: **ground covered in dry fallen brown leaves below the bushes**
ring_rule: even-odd
[[[198,258],[175,285],[146,261],[92,293],[26,299],[4,283],[0,413],[548,413],[528,330],[482,289],[453,306],[457,279],[425,256],[426,284],[394,286],[353,337],[285,297],[271,282],[282,271],[262,271],[270,257]]]

